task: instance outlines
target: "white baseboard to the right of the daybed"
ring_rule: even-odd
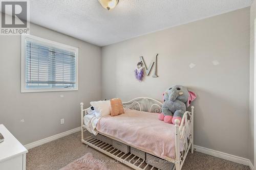
[[[225,159],[225,160],[229,160],[229,161],[232,161],[232,162],[247,165],[247,166],[250,167],[251,170],[254,170],[254,167],[253,167],[253,165],[252,165],[252,163],[249,159],[239,157],[239,156],[235,156],[235,155],[231,155],[231,154],[227,154],[227,153],[220,152],[220,151],[215,151],[215,150],[204,148],[204,147],[200,147],[198,145],[194,145],[194,150],[197,151],[197,152],[207,154],[207,155],[211,155],[211,156],[215,156],[215,157],[222,158],[222,159]]]

